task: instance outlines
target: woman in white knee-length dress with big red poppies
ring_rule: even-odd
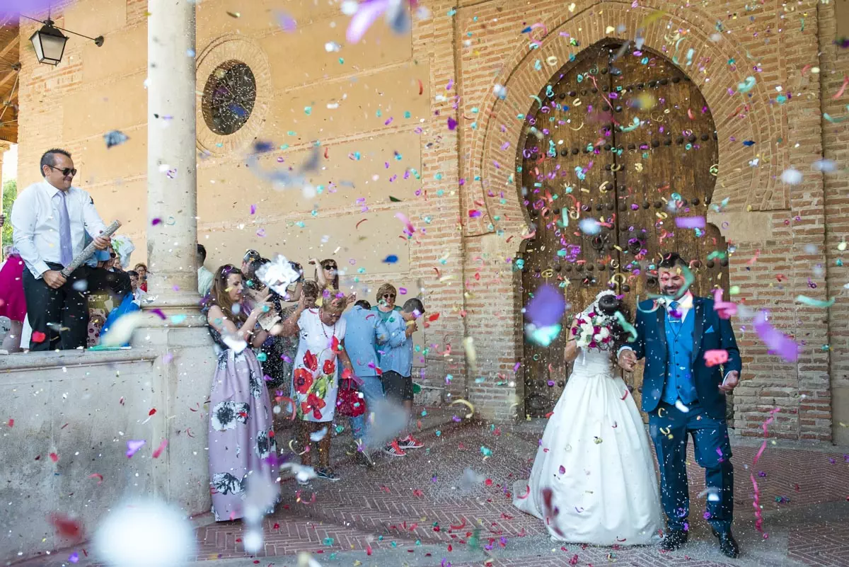
[[[339,366],[352,373],[345,351],[344,297],[325,300],[318,309],[306,309],[301,300],[295,312],[283,323],[283,336],[300,333],[294,361],[292,398],[301,419],[298,438],[304,451],[301,464],[312,466],[312,442],[318,442],[318,478],[339,480],[330,469],[330,439],[339,390]]]

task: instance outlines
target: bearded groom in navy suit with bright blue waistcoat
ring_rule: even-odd
[[[661,469],[661,500],[667,519],[662,548],[672,551],[687,542],[689,494],[687,436],[693,436],[695,460],[705,469],[706,519],[731,558],[739,547],[731,535],[734,467],[725,422],[725,395],[739,382],[740,356],[734,329],[713,308],[713,300],[685,289],[687,262],[675,253],[658,267],[661,298],[643,301],[637,311],[637,339],[619,351],[619,366],[632,371],[645,358],[643,411]],[[705,352],[721,350],[728,361],[709,367]]]

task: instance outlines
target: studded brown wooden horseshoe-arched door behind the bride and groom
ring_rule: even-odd
[[[537,96],[517,155],[520,198],[535,231],[521,252],[523,305],[549,283],[571,309],[550,345],[525,341],[531,417],[550,412],[565,386],[565,330],[574,314],[611,288],[633,311],[638,297],[659,292],[661,252],[691,261],[696,295],[718,286],[728,296],[717,227],[676,223],[706,217],[718,167],[711,111],[689,77],[658,53],[602,42],[555,73]],[[600,222],[600,233],[584,233],[585,218]],[[635,374],[639,401],[642,374]]]

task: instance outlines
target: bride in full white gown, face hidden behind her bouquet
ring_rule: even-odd
[[[660,541],[661,503],[649,437],[613,356],[627,332],[613,291],[576,317],[566,343],[575,361],[548,420],[531,478],[514,484],[514,506],[544,519],[556,540],[593,545]],[[620,318],[620,321],[624,319]]]

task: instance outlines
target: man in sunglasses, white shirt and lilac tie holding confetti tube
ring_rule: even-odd
[[[32,327],[31,351],[70,350],[86,345],[88,268],[62,275],[85,247],[86,233],[98,250],[110,246],[91,196],[71,186],[74,162],[64,149],[42,155],[44,179],[25,188],[12,206],[14,246],[24,259],[24,295]]]

